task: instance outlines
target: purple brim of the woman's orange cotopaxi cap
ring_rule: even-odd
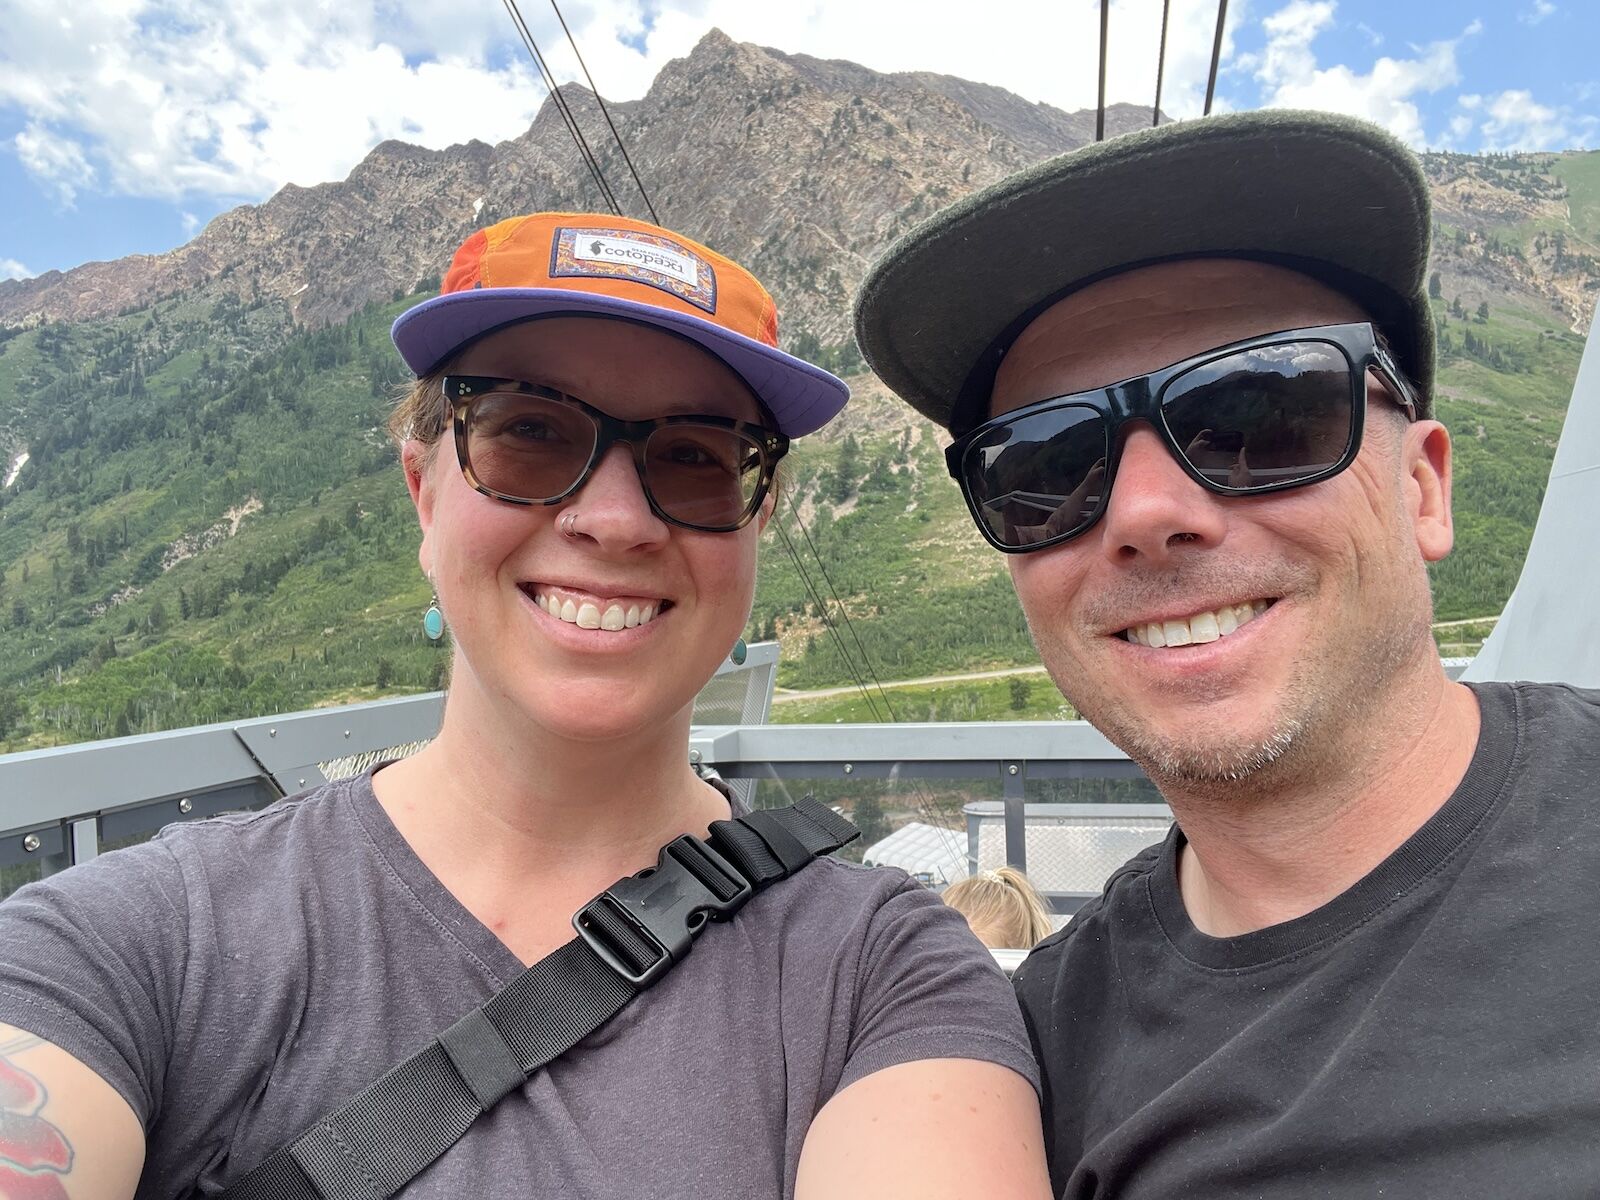
[[[490,330],[566,312],[626,317],[699,342],[739,373],[789,437],[821,429],[850,398],[843,379],[754,338],[653,304],[566,288],[478,288],[435,296],[400,314],[390,336],[406,366],[422,376]]]

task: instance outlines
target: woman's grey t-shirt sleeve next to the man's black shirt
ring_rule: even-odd
[[[997,1062],[1038,1091],[1016,995],[966,920],[907,880],[872,915],[838,1088],[931,1058]]]

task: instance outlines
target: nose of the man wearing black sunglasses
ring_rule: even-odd
[[[1195,483],[1149,426],[1134,426],[1122,446],[1101,546],[1126,563],[1162,563],[1176,546],[1216,546],[1227,533],[1222,496]]]

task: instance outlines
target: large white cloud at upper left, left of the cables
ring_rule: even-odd
[[[528,126],[542,98],[528,67],[408,58],[374,3],[91,0],[64,18],[14,0],[0,8],[0,106],[29,118],[18,157],[67,202],[96,178],[130,195],[262,197],[341,178],[384,138]]]

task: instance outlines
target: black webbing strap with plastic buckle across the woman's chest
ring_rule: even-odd
[[[578,938],[256,1166],[222,1200],[387,1200],[478,1117],[672,970],[707,922],[858,835],[810,797],[715,821],[589,901]]]

